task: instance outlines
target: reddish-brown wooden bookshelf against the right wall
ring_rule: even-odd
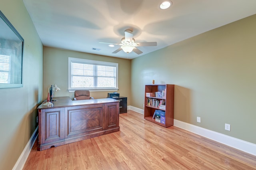
[[[147,93],[155,93],[155,92],[165,92],[164,96],[155,96],[148,97]],[[163,127],[173,126],[174,119],[174,85],[170,84],[156,84],[156,85],[145,85],[145,101],[144,101],[144,119],[161,125]],[[148,100],[150,99],[150,100]],[[152,104],[153,101],[161,101],[165,100],[165,109],[160,109],[156,103]],[[152,101],[152,102],[151,102]],[[156,122],[156,119],[153,119],[154,112],[156,110],[165,111],[165,124]]]

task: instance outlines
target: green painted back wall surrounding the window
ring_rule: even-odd
[[[60,88],[54,93],[55,97],[69,96],[73,99],[74,92],[68,92],[68,57],[118,63],[118,93],[127,97],[127,104],[130,105],[131,60],[52,47],[44,47],[44,99],[52,84]],[[110,92],[113,91],[90,92],[90,96],[95,99],[106,98]]]

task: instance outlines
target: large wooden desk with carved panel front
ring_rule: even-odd
[[[111,98],[72,101],[55,97],[53,106],[37,108],[38,150],[117,132],[119,101]]]

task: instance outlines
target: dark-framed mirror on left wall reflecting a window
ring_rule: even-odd
[[[24,39],[0,11],[0,88],[23,87]]]

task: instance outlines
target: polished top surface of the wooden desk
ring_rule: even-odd
[[[58,108],[58,107],[71,107],[71,106],[119,102],[118,100],[112,99],[112,98],[72,101],[70,97],[54,97],[53,100],[56,100],[56,101],[51,102],[53,104],[52,106],[44,106],[43,104],[46,103],[46,100],[45,100],[41,103],[40,106],[38,106],[37,109],[50,109],[50,108]]]

